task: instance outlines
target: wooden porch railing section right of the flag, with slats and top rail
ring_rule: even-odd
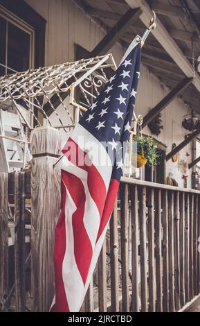
[[[200,292],[199,244],[199,191],[122,178],[87,308],[179,311]]]

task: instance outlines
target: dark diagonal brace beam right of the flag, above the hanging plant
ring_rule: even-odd
[[[154,120],[154,118],[169,105],[176,96],[179,96],[183,89],[188,87],[192,83],[193,78],[184,78],[181,83],[179,83],[174,89],[170,91],[152,110],[150,110],[143,118],[143,128],[147,126],[149,122]]]

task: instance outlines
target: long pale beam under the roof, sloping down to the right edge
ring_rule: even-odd
[[[150,19],[152,18],[152,9],[147,4],[145,0],[125,0],[131,8],[140,7],[143,10],[143,15],[140,16],[140,20],[149,26]],[[156,40],[163,46],[163,49],[174,60],[176,65],[183,71],[183,74],[186,77],[193,76],[192,65],[187,58],[183,55],[178,44],[174,41],[170,33],[167,32],[165,26],[161,23],[160,19],[156,18],[156,29],[153,31],[153,35]],[[197,75],[197,78],[192,82],[194,86],[200,92],[200,76]]]

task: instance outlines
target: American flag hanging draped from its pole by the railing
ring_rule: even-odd
[[[82,306],[118,193],[139,76],[135,39],[64,146],[51,311],[76,312]]]

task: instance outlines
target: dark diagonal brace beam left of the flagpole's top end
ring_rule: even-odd
[[[141,14],[142,10],[140,10],[140,8],[130,8],[127,10],[125,15],[120,18],[116,25],[111,28],[109,33],[107,33],[93,51],[89,53],[89,58],[96,57],[96,55],[106,54]]]

